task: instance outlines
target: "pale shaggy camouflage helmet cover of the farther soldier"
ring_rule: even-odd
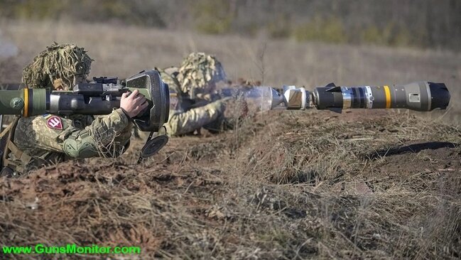
[[[195,99],[197,94],[210,92],[210,84],[226,79],[224,69],[215,56],[205,53],[190,53],[183,60],[179,71],[180,90]]]

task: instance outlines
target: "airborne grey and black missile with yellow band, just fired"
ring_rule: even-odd
[[[338,87],[334,84],[316,87],[308,92],[303,87],[284,87],[283,102],[273,97],[273,107],[284,104],[287,109],[410,109],[432,111],[446,109],[450,92],[443,83],[413,82],[408,85]]]

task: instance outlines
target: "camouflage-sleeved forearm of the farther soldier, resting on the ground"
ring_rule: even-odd
[[[224,112],[224,103],[220,100],[187,112],[175,112],[165,124],[168,134],[187,134],[215,121]]]

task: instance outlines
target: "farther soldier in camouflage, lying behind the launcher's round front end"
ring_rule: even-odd
[[[215,57],[191,53],[180,68],[158,72],[170,90],[170,117],[165,124],[169,135],[188,134],[222,117],[223,100],[214,100],[210,94],[215,83],[225,78]]]

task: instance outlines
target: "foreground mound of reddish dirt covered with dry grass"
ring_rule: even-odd
[[[460,136],[406,113],[269,112],[173,138],[137,165],[139,141],[112,161],[2,178],[0,244],[141,247],[128,259],[456,259]]]

